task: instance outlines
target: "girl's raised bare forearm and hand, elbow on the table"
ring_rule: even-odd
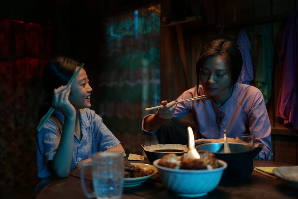
[[[52,161],[52,167],[61,178],[69,175],[72,162],[73,137],[75,131],[75,108],[70,104],[68,96],[70,85],[61,86],[54,90],[52,105],[65,116],[61,139],[58,149]]]

